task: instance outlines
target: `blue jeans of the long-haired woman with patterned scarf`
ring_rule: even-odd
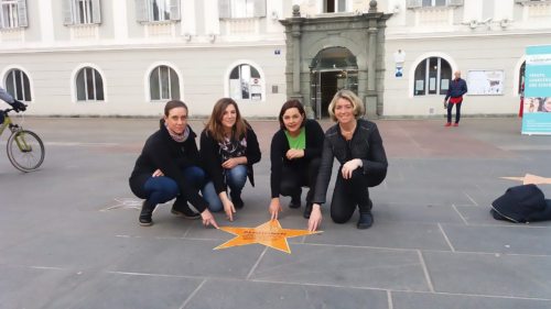
[[[237,165],[231,169],[226,169],[226,185],[230,190],[230,196],[240,197],[242,187],[247,181],[247,166]],[[203,197],[208,202],[208,209],[213,212],[222,211],[224,205],[216,194],[213,181],[208,181],[203,188]]]

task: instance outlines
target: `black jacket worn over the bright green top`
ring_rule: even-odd
[[[281,185],[281,170],[283,164],[285,165],[302,165],[307,164],[314,157],[322,156],[323,147],[323,130],[317,121],[312,119],[306,119],[304,123],[305,134],[306,134],[306,148],[304,150],[304,157],[299,159],[290,161],[285,157],[289,151],[289,141],[285,136],[285,130],[279,130],[273,134],[272,143],[270,146],[270,162],[271,162],[271,175],[270,175],[270,186],[272,198],[277,198],[280,195]]]

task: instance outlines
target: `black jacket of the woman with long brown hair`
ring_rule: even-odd
[[[247,140],[247,148],[245,150],[245,156],[247,157],[247,175],[250,184],[255,187],[252,165],[260,161],[260,146],[258,145],[257,134],[255,134],[252,128],[248,126],[245,134],[245,139]],[[226,191],[226,184],[223,177],[220,146],[218,142],[208,134],[207,130],[203,130],[201,133],[199,153],[203,166],[213,180],[216,192]]]

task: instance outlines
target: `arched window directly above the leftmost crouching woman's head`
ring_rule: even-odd
[[[169,66],[155,67],[149,76],[151,101],[180,100],[180,80],[176,71]]]

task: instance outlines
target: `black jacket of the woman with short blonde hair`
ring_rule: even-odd
[[[354,131],[349,141],[352,158],[361,159],[364,174],[370,176],[368,178],[369,187],[374,187],[379,185],[387,176],[387,155],[382,147],[382,139],[380,137],[377,124],[364,119],[358,119],[357,121],[356,131]],[[347,162],[346,148],[347,142],[341,134],[338,124],[331,126],[325,132],[322,163],[312,202],[325,202],[331,172],[333,169],[333,159],[336,158],[341,165],[345,164]],[[341,173],[341,169],[338,173]]]

